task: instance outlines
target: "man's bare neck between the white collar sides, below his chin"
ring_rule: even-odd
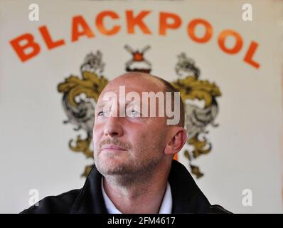
[[[158,213],[166,190],[169,172],[146,175],[144,180],[121,185],[117,177],[105,177],[104,188],[122,213]]]

